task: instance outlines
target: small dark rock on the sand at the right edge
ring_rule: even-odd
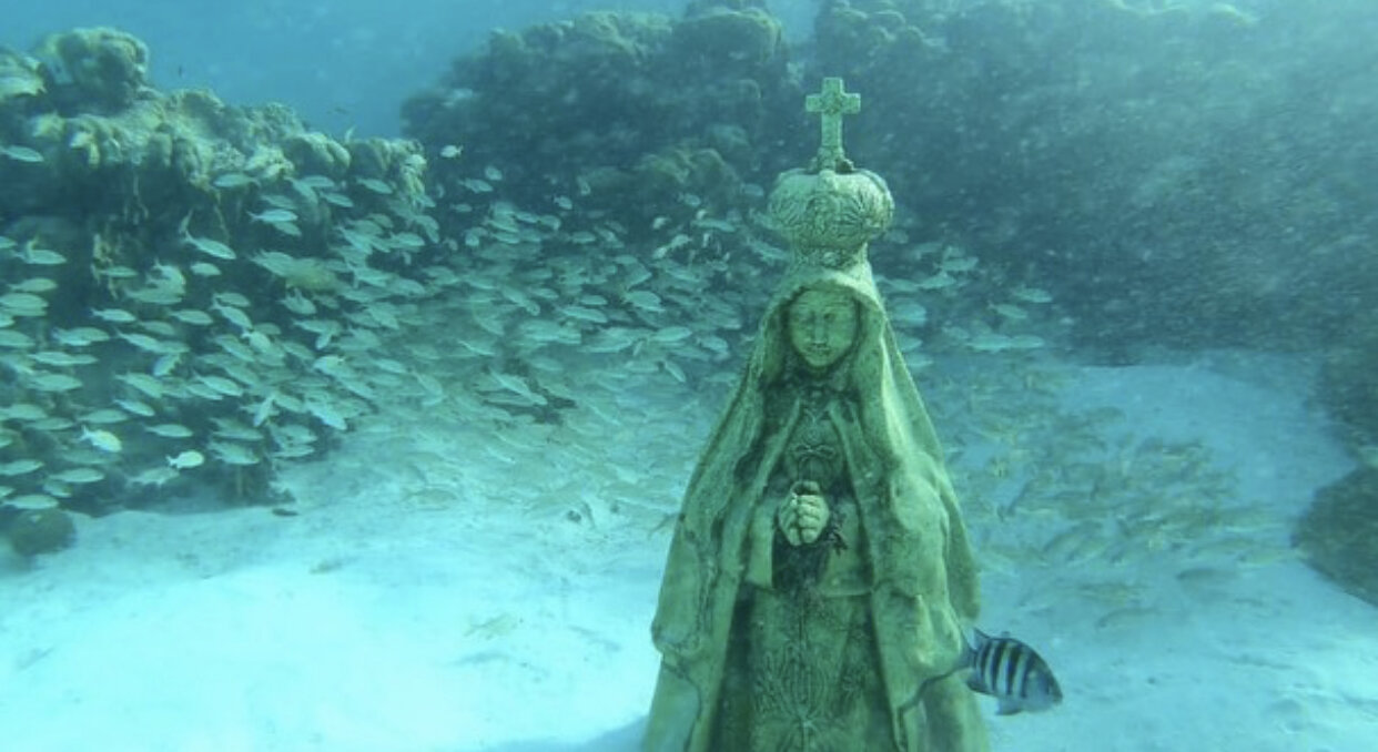
[[[1378,468],[1363,468],[1316,493],[1294,543],[1310,566],[1378,606]]]

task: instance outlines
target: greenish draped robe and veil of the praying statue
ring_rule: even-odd
[[[806,387],[788,344],[785,310],[810,288],[852,296],[858,326],[849,353]],[[810,391],[821,394],[821,402]],[[814,631],[820,646],[809,650],[820,665],[841,661],[838,676],[846,667],[852,673],[871,667],[874,673],[860,678],[857,689],[867,712],[816,735],[781,727],[740,737],[741,713],[758,718],[740,707],[747,697],[741,690],[761,696],[770,687],[734,682],[762,682],[758,668],[745,665],[751,656],[787,642],[772,640],[772,631],[799,628],[803,606],[790,602],[799,594],[776,581],[774,515],[781,459],[805,408],[820,404],[841,446],[845,478],[834,496],[854,515],[857,540],[846,543],[865,573],[865,588],[852,596],[823,595],[852,606],[831,605],[832,623],[845,624]],[[976,567],[941,448],[870,269],[787,278],[685,493],[652,625],[661,669],[644,749],[747,752],[717,746],[740,738],[751,740],[748,748],[772,751],[875,749],[868,740],[879,734],[894,751],[983,752],[988,742],[970,690],[958,676],[938,679],[956,665],[962,629],[976,613]],[[790,667],[798,662],[783,667],[781,680],[788,680]],[[919,701],[901,712],[921,687]]]

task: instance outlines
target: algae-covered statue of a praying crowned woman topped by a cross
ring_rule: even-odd
[[[794,262],[685,493],[648,751],[988,749],[954,671],[976,566],[865,258],[893,200],[842,154],[841,90],[772,194]]]

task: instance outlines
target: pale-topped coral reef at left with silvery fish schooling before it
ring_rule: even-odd
[[[11,508],[270,499],[276,464],[408,382],[356,355],[444,286],[418,145],[158,91],[147,58],[116,29],[0,52]]]

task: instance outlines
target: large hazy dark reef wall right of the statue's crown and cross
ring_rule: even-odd
[[[1371,3],[830,0],[820,72],[926,231],[1024,269],[1109,362],[1309,347],[1378,296]],[[1355,266],[1359,269],[1355,269]]]

